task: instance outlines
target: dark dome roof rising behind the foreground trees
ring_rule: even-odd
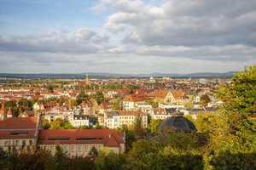
[[[165,130],[174,130],[176,132],[190,133],[191,131],[197,131],[193,122],[183,116],[172,116],[166,118],[160,123],[159,133],[163,133]]]

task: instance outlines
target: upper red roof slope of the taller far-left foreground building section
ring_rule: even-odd
[[[0,122],[0,129],[31,129],[36,128],[38,117],[7,117]]]

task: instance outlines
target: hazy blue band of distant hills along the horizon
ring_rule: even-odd
[[[15,73],[0,73],[0,77],[5,78],[28,78],[28,79],[44,79],[44,78],[61,78],[61,79],[85,79],[85,75],[89,74],[90,78],[113,78],[113,77],[233,77],[236,71],[224,73],[219,72],[197,72],[189,74],[177,73],[150,73],[150,74],[118,74],[108,72],[88,72],[77,74],[59,74],[59,73],[40,73],[40,74],[15,74]]]

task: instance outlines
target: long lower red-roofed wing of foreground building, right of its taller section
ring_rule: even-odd
[[[55,144],[59,144],[70,158],[88,156],[93,147],[98,151],[108,148],[122,154],[125,151],[125,133],[117,133],[113,129],[40,130],[39,147],[54,155]]]

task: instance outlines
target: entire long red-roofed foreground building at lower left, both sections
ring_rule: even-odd
[[[70,158],[88,156],[93,147],[98,151],[108,148],[122,154],[125,151],[125,133],[117,133],[113,129],[42,130],[40,116],[7,117],[0,122],[0,147],[4,151],[15,147],[19,153],[38,145],[54,155],[56,144],[60,144]]]

